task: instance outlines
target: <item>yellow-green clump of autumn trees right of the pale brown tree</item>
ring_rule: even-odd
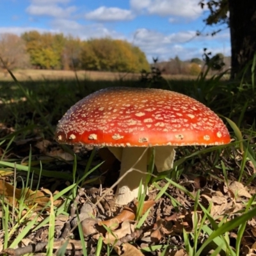
[[[31,64],[36,68],[63,68],[140,72],[150,70],[147,58],[140,50],[124,40],[97,38],[81,41],[63,34],[22,34]]]

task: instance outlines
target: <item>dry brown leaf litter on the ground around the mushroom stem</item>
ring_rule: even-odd
[[[6,127],[1,132],[3,136],[11,133]],[[29,138],[25,139],[17,136],[13,143],[15,147],[9,150],[8,154],[4,152],[6,143],[0,146],[0,157],[4,156],[3,160],[13,161],[12,158],[14,158],[14,161],[18,163],[27,164],[28,158],[26,157],[28,157],[28,152],[31,150],[32,164],[36,165],[41,161],[47,164],[49,170],[60,170],[61,172],[65,170],[70,175],[72,174],[74,155],[63,150],[55,141],[51,139],[46,140],[38,135],[30,135]],[[92,148],[71,147],[71,149],[76,152],[79,158],[77,161],[77,172],[78,174],[80,172],[81,175],[81,170],[84,170],[88,163]],[[238,150],[234,150],[234,152],[236,156],[233,159],[227,157],[225,152],[221,154],[221,160],[232,170],[232,172],[228,172],[228,179],[223,177],[220,170],[212,168],[212,156],[207,156],[205,157],[204,164],[198,161],[186,166],[186,170],[184,170],[178,182],[180,186],[187,189],[193,196],[199,191],[200,204],[206,209],[211,205],[209,212],[216,223],[220,223],[224,219],[229,221],[236,216],[240,216],[241,211],[246,208],[248,200],[255,194],[256,186],[253,182],[250,185],[246,185],[246,180],[242,179],[239,182],[235,179],[235,177],[239,177],[238,173],[242,158]],[[178,150],[179,154],[182,156],[183,152]],[[68,241],[67,255],[72,255],[72,253],[83,255],[83,246],[77,231],[77,225],[81,225],[89,255],[95,254],[97,241],[99,241],[100,237],[103,239],[102,253],[100,255],[106,255],[107,246],[111,246],[118,255],[161,255],[163,250],[165,250],[164,255],[166,256],[188,255],[183,233],[193,234],[195,228],[200,226],[200,221],[202,220],[205,221],[204,225],[211,227],[207,218],[204,219],[202,209],[200,207],[195,209],[195,200],[188,196],[188,193],[170,184],[165,193],[163,193],[163,196],[156,200],[159,191],[167,184],[167,181],[163,179],[158,182],[158,188],[150,187],[150,193],[144,204],[143,213],[147,209],[150,209],[150,212],[145,221],[143,221],[143,225],[138,228],[138,220],[136,220],[138,202],[135,200],[126,207],[116,209],[113,200],[114,191],[109,191],[108,189],[118,177],[119,161],[106,148],[97,151],[92,167],[102,163],[102,160],[104,163],[100,166],[99,170],[96,170],[88,177],[92,182],[85,182],[83,188],[79,188],[77,191],[76,198],[68,207],[68,211],[56,216],[54,250],[58,250],[65,241]],[[251,161],[246,161],[245,167],[246,172],[255,173],[255,167]],[[4,200],[0,203],[1,218],[4,215],[3,204],[8,205],[10,209],[19,209],[19,205],[23,204],[26,207],[22,211],[22,216],[26,216],[29,209],[32,209],[33,214],[29,216],[28,220],[38,218],[38,223],[42,223],[49,216],[49,207],[47,206],[50,205],[49,193],[56,195],[61,189],[71,184],[70,180],[58,180],[42,176],[40,177],[40,188],[36,189],[39,177],[34,175],[33,182],[29,183],[31,187],[22,189],[22,182],[20,180],[27,179],[26,173],[18,172],[12,175],[13,168],[2,169],[0,170],[0,195]],[[205,170],[207,175],[205,175]],[[17,174],[22,179],[17,179],[15,184],[13,177]],[[95,177],[100,177],[100,179],[95,179]],[[106,191],[108,191],[108,194],[100,200]],[[61,207],[63,202],[65,202],[65,196],[55,200],[54,206]],[[11,211],[10,214],[14,214],[12,218],[14,218],[13,225],[15,225],[17,213]],[[198,220],[197,223],[194,222],[195,214]],[[22,228],[23,225],[20,225],[17,228],[17,232],[21,232]],[[47,224],[42,225],[36,231],[31,229],[31,232],[22,239],[22,242],[16,248],[3,250],[3,245],[0,245],[0,252],[3,250],[2,253],[7,255],[45,252],[49,241],[47,230]],[[232,244],[235,244],[237,230],[230,231],[229,236]],[[10,243],[14,239],[15,234],[10,237]],[[204,232],[200,232],[198,243],[204,243],[205,239],[207,239],[207,235]],[[190,243],[193,244],[193,239],[190,238],[190,240]],[[253,218],[248,221],[244,231],[241,255],[256,254],[255,241],[256,220]],[[0,244],[4,244],[4,232],[0,232]],[[166,244],[168,247],[164,247]],[[159,247],[150,252],[152,246]],[[208,250],[208,253],[211,253],[211,246],[206,250]]]

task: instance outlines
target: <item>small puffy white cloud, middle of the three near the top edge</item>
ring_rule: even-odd
[[[130,10],[124,10],[116,7],[100,6],[92,12],[86,13],[85,18],[97,21],[120,21],[132,20],[134,15]]]

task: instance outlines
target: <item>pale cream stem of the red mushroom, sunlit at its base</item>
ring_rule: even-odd
[[[145,152],[147,148],[129,147],[116,148],[109,147],[109,150],[117,158],[121,157],[120,182],[116,189],[116,204],[125,205],[138,197],[140,182],[142,181],[142,191],[145,188],[145,180],[147,177],[147,161],[148,154]],[[122,153],[120,153],[122,150]]]

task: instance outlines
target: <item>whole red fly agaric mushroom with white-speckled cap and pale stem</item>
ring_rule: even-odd
[[[59,121],[55,138],[113,152],[121,161],[120,177],[129,171],[116,189],[118,205],[136,198],[145,182],[146,148],[155,147],[155,165],[162,172],[172,168],[175,147],[230,142],[222,120],[197,100],[168,90],[124,87],[99,90],[77,102]]]

